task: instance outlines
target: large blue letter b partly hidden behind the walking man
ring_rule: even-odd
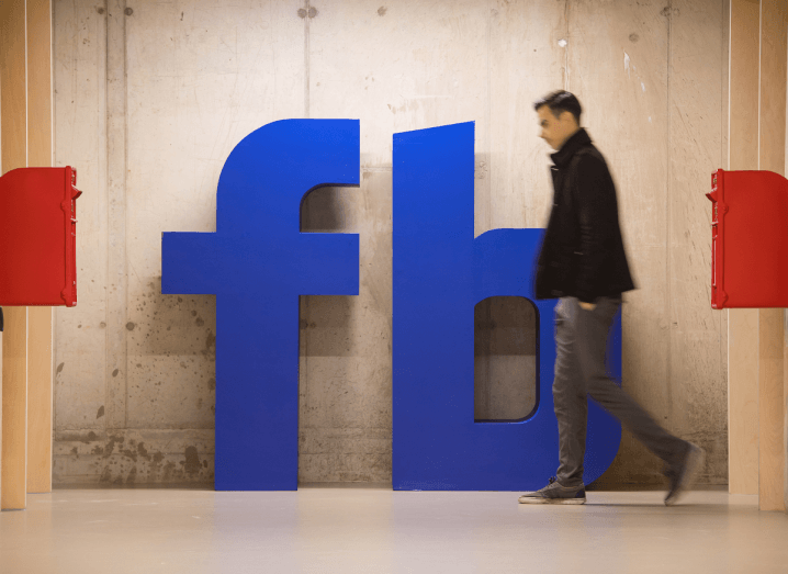
[[[394,136],[393,394],[395,489],[520,491],[558,468],[552,382],[555,301],[534,301],[541,229],[473,237],[474,125]],[[522,296],[538,311],[538,405],[527,420],[474,421],[474,306]],[[621,325],[608,347],[620,376]],[[610,465],[618,421],[588,405],[585,481]]]

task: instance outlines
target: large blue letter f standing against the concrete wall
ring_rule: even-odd
[[[300,233],[301,203],[359,184],[357,120],[248,135],[218,181],[216,233],[166,233],[162,293],[216,294],[216,489],[297,487],[299,295],[358,295],[359,236]]]

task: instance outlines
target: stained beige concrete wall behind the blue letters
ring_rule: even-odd
[[[703,196],[724,165],[723,4],[57,0],[56,164],[79,168],[85,195],[80,303],[56,317],[55,483],[212,480],[215,301],[161,295],[161,232],[215,230],[227,155],[286,117],[361,120],[361,188],[319,190],[303,214],[304,230],[360,234],[361,285],[301,301],[300,480],[390,481],[392,134],[475,121],[476,234],[540,227],[552,192],[531,102],[558,88],[585,105],[619,187],[640,286],[624,387],[725,483]],[[532,392],[529,319],[506,301],[477,311],[477,417],[506,418],[495,397],[527,408]],[[491,342],[513,333],[521,345]],[[624,434],[601,482],[658,471]]]

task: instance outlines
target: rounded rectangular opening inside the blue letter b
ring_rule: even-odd
[[[488,297],[474,308],[474,419],[520,420],[538,402],[537,308],[525,297]]]

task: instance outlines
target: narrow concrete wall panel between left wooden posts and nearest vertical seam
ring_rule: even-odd
[[[56,430],[103,430],[106,417],[106,9],[100,10],[54,2],[54,165],[77,167],[86,191],[77,235],[79,305],[54,311]]]

